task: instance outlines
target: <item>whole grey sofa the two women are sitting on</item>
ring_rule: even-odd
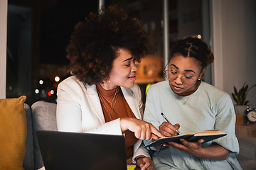
[[[1,99],[3,100],[3,99]],[[23,159],[23,169],[41,169],[43,161],[36,139],[36,130],[57,131],[56,104],[37,101],[30,107],[23,103],[26,111],[26,153]],[[0,113],[1,114],[1,113]],[[237,155],[242,169],[256,169],[256,137],[238,137],[240,153]],[[0,163],[1,164],[1,163]],[[1,168],[0,168],[1,169]]]

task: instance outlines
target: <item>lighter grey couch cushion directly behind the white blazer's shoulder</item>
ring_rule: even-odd
[[[40,169],[43,166],[40,148],[36,139],[36,130],[57,131],[56,106],[55,103],[48,103],[45,101],[37,101],[31,106],[36,169]]]

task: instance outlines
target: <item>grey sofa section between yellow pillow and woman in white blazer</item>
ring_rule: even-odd
[[[41,169],[43,160],[36,139],[36,130],[57,131],[56,104],[37,101],[31,108],[24,103],[24,108],[27,119],[27,138],[23,168],[25,170]]]

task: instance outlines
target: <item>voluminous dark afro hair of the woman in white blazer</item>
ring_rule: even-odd
[[[150,33],[137,18],[128,18],[122,8],[102,7],[78,23],[71,35],[67,58],[70,71],[80,81],[92,85],[109,79],[112,63],[120,48],[131,50],[139,62],[148,50]]]

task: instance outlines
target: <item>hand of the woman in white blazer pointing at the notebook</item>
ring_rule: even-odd
[[[122,132],[130,130],[134,132],[135,137],[140,140],[150,140],[151,137],[157,140],[159,137],[164,137],[154,125],[137,118],[121,118],[120,124]]]

